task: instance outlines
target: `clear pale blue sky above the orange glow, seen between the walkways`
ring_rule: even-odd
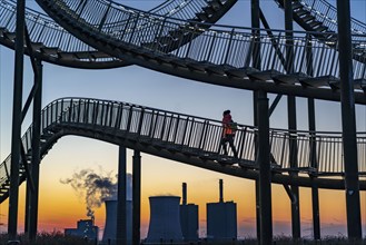
[[[161,1],[152,0],[119,0],[127,6],[148,10]],[[284,12],[278,9],[273,0],[261,0],[263,11],[268,18],[270,27],[281,29],[284,23]],[[335,1],[332,1],[335,3]],[[37,8],[33,0],[28,0],[27,6]],[[366,22],[366,1],[352,1],[353,17]],[[219,23],[250,27],[250,1],[238,0],[238,3],[224,17]],[[296,24],[295,24],[296,26]],[[10,153],[11,141],[11,104],[12,104],[12,82],[13,82],[13,51],[0,47],[0,157],[3,160]],[[24,97],[32,86],[32,70],[29,58],[26,57],[24,67]],[[157,71],[151,71],[141,67],[130,66],[126,68],[108,70],[82,70],[58,67],[44,63],[43,67],[43,98],[42,105],[60,97],[91,97],[101,99],[111,99],[119,101],[133,102],[138,105],[156,107],[177,112],[220,119],[221,111],[230,109],[234,119],[240,124],[253,125],[253,97],[251,91],[226,88],[202,84],[198,81],[181,79]],[[274,96],[269,95],[270,101]],[[297,99],[297,121],[299,129],[307,129],[307,107],[306,99]],[[316,101],[316,120],[318,130],[340,130],[340,104],[329,101]],[[31,114],[29,114],[31,115]],[[366,131],[366,107],[356,106],[357,129]],[[23,130],[30,125],[30,117],[26,118]],[[270,117],[270,127],[287,128],[286,98],[279,102],[274,115]],[[131,156],[131,151],[128,151]],[[142,156],[145,157],[145,156]],[[158,161],[154,169],[164,169],[166,166],[178,168],[177,163],[168,163],[164,159],[150,159],[151,163]],[[43,167],[43,164],[46,165]],[[62,165],[65,171],[55,170],[56,165]],[[82,139],[78,137],[66,137],[60,139],[55,149],[42,161],[41,177],[53,178],[56,182],[60,178],[68,178],[75,170],[81,168],[98,168],[103,166],[105,171],[116,171],[117,169],[117,147],[95,140]],[[53,169],[52,169],[53,168]],[[130,170],[130,166],[128,167]],[[179,167],[180,168],[180,167]],[[145,169],[149,169],[146,167]],[[144,170],[144,169],[142,169]],[[146,170],[148,171],[148,170]],[[151,168],[152,171],[152,168]],[[192,183],[200,183],[206,179],[207,183],[215,184],[220,175],[214,173],[204,173],[192,168],[181,168],[187,171],[186,177],[191,171],[199,171],[195,177],[189,178]],[[179,173],[177,173],[177,176]],[[159,176],[159,175],[157,175]],[[205,177],[202,177],[205,176]],[[188,177],[187,177],[188,178]],[[180,179],[180,177],[179,177]],[[182,178],[184,180],[184,178]],[[227,179],[230,183],[230,179]],[[189,185],[189,184],[188,184]],[[176,187],[179,194],[180,186]],[[165,192],[176,192],[161,189]],[[154,194],[154,193],[152,193]],[[155,193],[158,194],[158,193]],[[366,199],[366,196],[364,195]],[[211,202],[207,199],[207,202]],[[366,200],[365,200],[366,202]],[[0,206],[0,213],[8,207],[6,204]],[[364,212],[365,214],[366,212]],[[276,216],[276,214],[274,214]],[[366,214],[364,215],[366,223]],[[80,217],[83,218],[83,217]],[[4,219],[6,220],[6,219]],[[286,223],[286,222],[285,222]],[[287,227],[288,227],[288,223]],[[278,228],[281,234],[283,228]],[[343,226],[344,227],[344,226]],[[288,231],[287,231],[288,232]],[[285,233],[287,233],[285,232]],[[344,233],[344,228],[342,231]],[[364,232],[366,233],[366,232]],[[244,236],[246,233],[239,233]]]

